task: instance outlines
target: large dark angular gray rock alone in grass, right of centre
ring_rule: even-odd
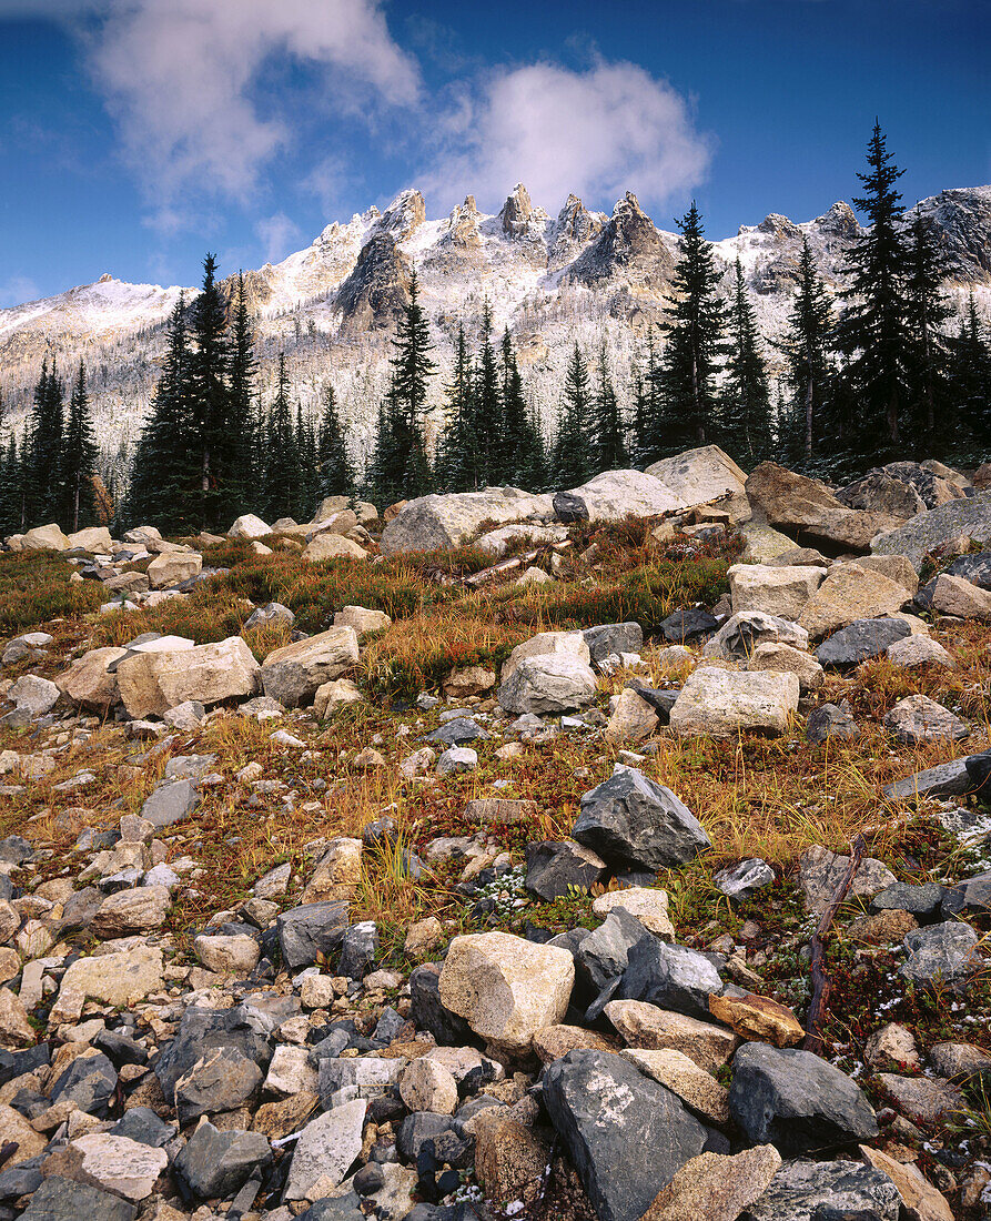
[[[621,764],[581,799],[571,834],[610,864],[654,873],[710,846],[694,814],[670,789]]]

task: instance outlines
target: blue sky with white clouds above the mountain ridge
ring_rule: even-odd
[[[0,0],[0,305],[194,283],[399,189],[635,190],[709,236],[991,181],[989,0]]]

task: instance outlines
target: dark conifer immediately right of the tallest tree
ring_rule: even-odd
[[[947,399],[950,341],[946,324],[952,310],[940,292],[947,260],[936,243],[931,222],[917,215],[906,252],[907,415],[920,458],[947,454],[957,440],[958,421]]]

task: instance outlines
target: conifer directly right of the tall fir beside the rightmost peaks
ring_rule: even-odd
[[[720,410],[721,443],[736,462],[753,468],[771,453],[771,402],[768,366],[740,259],[733,276],[729,332]]]

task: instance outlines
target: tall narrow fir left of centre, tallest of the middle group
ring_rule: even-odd
[[[427,387],[437,366],[415,270],[409,295],[393,341],[389,389],[378,410],[378,437],[366,476],[384,503],[423,496],[431,482],[425,420]]]

